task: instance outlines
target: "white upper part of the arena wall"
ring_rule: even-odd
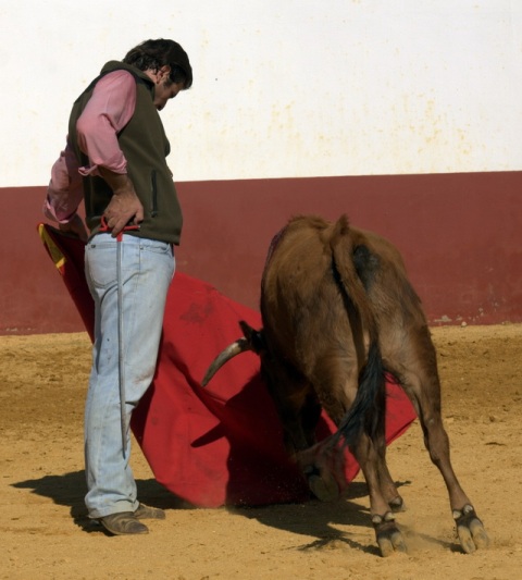
[[[519,0],[2,0],[0,186],[45,185],[71,104],[147,38],[187,50],[176,181],[522,170]]]

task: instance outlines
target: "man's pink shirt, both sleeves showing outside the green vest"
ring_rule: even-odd
[[[82,175],[98,175],[98,165],[126,173],[127,160],[117,143],[117,133],[130,121],[136,108],[136,82],[127,71],[114,71],[98,81],[89,102],[76,122],[78,145],[89,158],[79,166],[69,140],[51,170],[44,213],[66,223],[84,197]]]

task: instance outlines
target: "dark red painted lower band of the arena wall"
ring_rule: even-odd
[[[384,235],[435,324],[522,321],[522,172],[347,176],[177,185],[178,270],[257,307],[272,235],[298,213]],[[83,330],[36,224],[45,187],[0,189],[0,334]]]

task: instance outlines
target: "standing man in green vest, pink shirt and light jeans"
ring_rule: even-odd
[[[87,242],[96,321],[85,502],[112,534],[147,533],[140,520],[165,517],[137,501],[129,421],[154,374],[182,230],[159,111],[191,84],[188,57],[173,40],[146,40],[122,62],[108,62],[73,106],[44,207],[61,230]],[[89,234],[76,213],[82,199]]]

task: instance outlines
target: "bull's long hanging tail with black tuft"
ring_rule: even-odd
[[[385,370],[375,316],[353,264],[353,233],[346,215],[333,225],[330,245],[334,276],[345,301],[361,369],[356,398],[333,441],[335,444],[343,436],[347,445],[352,445],[363,429],[372,439],[384,434]],[[368,354],[364,335],[368,335]]]

